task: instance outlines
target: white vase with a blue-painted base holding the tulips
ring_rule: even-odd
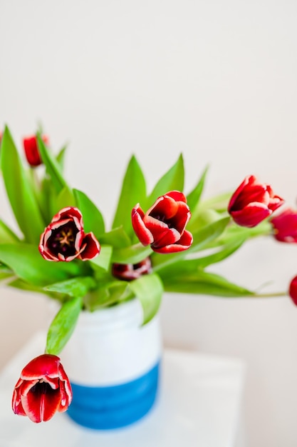
[[[73,387],[68,416],[96,429],[142,418],[155,402],[161,355],[159,318],[142,326],[137,299],[81,312],[61,353]]]

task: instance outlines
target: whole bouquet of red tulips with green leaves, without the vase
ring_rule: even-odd
[[[71,384],[58,355],[81,311],[136,296],[147,323],[164,291],[261,296],[207,267],[256,236],[297,241],[297,211],[271,219],[283,199],[254,176],[233,194],[202,200],[205,170],[185,195],[182,156],[150,194],[132,156],[112,228],[106,229],[98,207],[64,178],[65,152],[53,154],[41,132],[24,139],[25,156],[7,127],[1,139],[1,173],[21,236],[0,220],[0,278],[6,286],[46,293],[61,304],[48,328],[45,353],[25,366],[14,388],[14,413],[33,422],[48,421],[71,403]],[[290,293],[297,303],[297,278]]]

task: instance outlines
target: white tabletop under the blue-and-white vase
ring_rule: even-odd
[[[160,395],[141,421],[115,431],[81,428],[65,413],[35,424],[11,410],[21,369],[42,352],[38,333],[0,373],[0,447],[237,447],[244,363],[165,350]]]

